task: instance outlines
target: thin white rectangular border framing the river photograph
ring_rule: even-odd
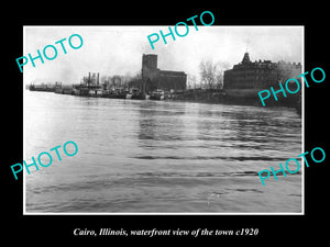
[[[25,29],[26,27],[118,27],[118,25],[70,25],[70,26],[57,26],[57,25],[44,25],[44,26],[34,26],[34,25],[23,25],[23,54],[25,54]],[[130,25],[128,25],[129,27]],[[145,25],[146,26],[146,25]],[[220,26],[220,25],[215,25]],[[301,72],[305,72],[305,25],[221,25],[223,27],[300,27],[302,29],[302,41],[301,41]],[[122,27],[122,26],[120,26]],[[132,27],[132,26],[130,26]],[[302,100],[301,100],[301,154],[305,153],[305,83],[302,85]],[[24,85],[24,72],[23,72],[23,160],[25,160],[25,130],[24,130],[24,120],[25,120],[25,105],[24,105],[24,94],[25,94],[25,85]],[[304,164],[304,159],[301,157],[301,164]],[[25,169],[23,169],[23,215],[305,215],[305,166],[301,166],[301,212],[292,213],[292,212],[264,212],[264,213],[205,213],[205,212],[196,212],[196,213],[28,213],[26,212],[26,188],[25,188]]]

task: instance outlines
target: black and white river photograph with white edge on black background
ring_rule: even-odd
[[[304,214],[304,25],[197,24],[23,26],[24,215]]]

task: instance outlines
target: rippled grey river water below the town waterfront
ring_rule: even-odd
[[[26,164],[53,157],[24,171],[25,213],[302,211],[300,172],[265,186],[257,176],[301,154],[301,119],[287,108],[26,91],[24,151]]]

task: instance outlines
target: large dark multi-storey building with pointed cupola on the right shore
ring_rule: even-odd
[[[223,89],[265,89],[272,86],[278,87],[278,82],[296,78],[300,74],[300,63],[251,61],[249,53],[245,53],[241,63],[223,72]]]

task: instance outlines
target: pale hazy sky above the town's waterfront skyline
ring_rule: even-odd
[[[100,72],[102,76],[131,75],[141,71],[142,54],[157,54],[158,68],[163,70],[185,71],[188,78],[199,79],[199,64],[212,60],[220,70],[232,68],[240,63],[248,50],[254,60],[285,60],[302,63],[304,26],[202,26],[189,25],[186,36],[175,34],[175,41],[167,36],[164,44],[160,30],[168,33],[168,26],[24,26],[23,54],[37,56],[47,45],[54,45],[57,57],[44,58],[44,64],[35,59],[23,67],[24,83],[62,81],[64,85],[79,83],[88,72]],[[174,31],[174,26],[172,26]],[[179,26],[178,32],[185,33]],[[152,49],[147,36],[157,33],[158,42]],[[73,49],[68,38],[79,34],[82,46]],[[66,38],[63,44],[55,42]],[[74,45],[79,45],[77,37]],[[52,56],[52,48],[47,49]],[[18,67],[19,69],[19,67]]]

